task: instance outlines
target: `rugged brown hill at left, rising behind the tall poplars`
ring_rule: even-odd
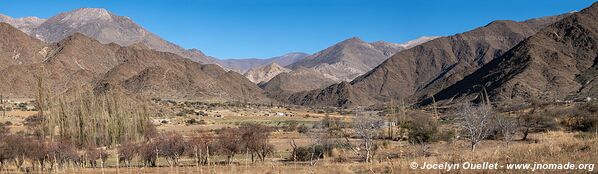
[[[269,102],[257,85],[235,72],[226,72],[216,65],[201,65],[176,54],[101,44],[75,33],[55,44],[44,45],[7,24],[0,24],[2,33],[13,33],[4,40],[24,40],[23,45],[39,45],[32,52],[22,53],[32,61],[4,66],[0,70],[0,93],[10,97],[32,97],[38,78],[51,93],[60,93],[84,84],[93,84],[96,92],[123,88],[148,97]],[[26,37],[25,37],[26,36]],[[17,37],[17,38],[13,38]],[[11,42],[8,45],[19,44]],[[2,45],[7,45],[2,43]],[[42,56],[39,50],[47,49]],[[2,49],[0,54],[12,53]],[[3,61],[4,62],[4,61]],[[9,63],[10,61],[6,61]],[[3,63],[4,64],[4,63]]]

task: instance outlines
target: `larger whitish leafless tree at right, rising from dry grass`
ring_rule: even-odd
[[[492,106],[489,104],[474,106],[471,103],[465,103],[461,106],[457,116],[461,121],[465,136],[469,139],[471,151],[475,151],[476,145],[487,138],[493,130],[491,125],[494,117]]]

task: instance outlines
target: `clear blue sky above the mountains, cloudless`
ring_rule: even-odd
[[[404,42],[493,20],[581,10],[592,0],[0,0],[0,13],[51,17],[100,7],[185,48],[218,58],[314,53],[346,38]]]

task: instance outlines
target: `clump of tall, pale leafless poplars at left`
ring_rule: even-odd
[[[39,115],[44,117],[39,129],[42,135],[50,138],[60,135],[79,148],[143,140],[150,118],[144,102],[118,90],[102,95],[94,94],[91,89],[77,89],[73,93],[39,99],[42,106]]]

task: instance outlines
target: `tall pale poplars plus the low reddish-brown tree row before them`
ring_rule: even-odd
[[[246,153],[252,161],[264,161],[273,153],[270,128],[244,125],[215,132],[183,137],[175,132],[158,133],[149,123],[150,111],[143,100],[131,98],[117,89],[98,94],[91,88],[76,88],[65,95],[51,96],[38,78],[38,113],[26,119],[27,132],[9,134],[6,127],[0,141],[0,164],[14,163],[21,168],[30,161],[34,168],[51,169],[65,164],[95,167],[109,154],[102,149],[118,147],[119,161],[130,166],[138,157],[147,166],[158,158],[169,165],[179,164],[183,155],[193,156],[197,164],[209,163],[209,156],[234,156]],[[6,130],[6,131],[5,131]],[[97,148],[101,147],[101,148]]]

